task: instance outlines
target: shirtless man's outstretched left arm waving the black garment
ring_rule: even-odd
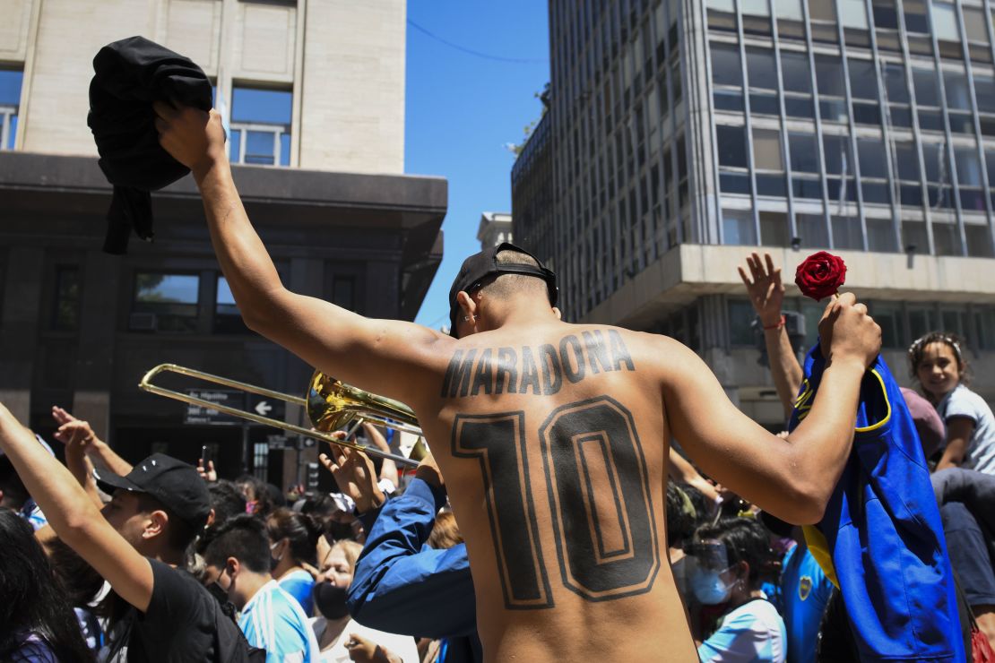
[[[425,369],[445,362],[439,346],[453,339],[287,290],[235,189],[220,115],[161,102],[155,111],[162,147],[193,173],[211,243],[246,325],[345,382],[409,404],[422,399],[432,377]]]

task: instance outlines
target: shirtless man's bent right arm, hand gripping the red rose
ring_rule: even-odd
[[[855,302],[848,293],[827,306],[827,368],[812,411],[784,439],[739,412],[695,353],[665,340],[674,436],[709,476],[789,523],[822,518],[850,455],[861,380],[881,348],[881,328]]]

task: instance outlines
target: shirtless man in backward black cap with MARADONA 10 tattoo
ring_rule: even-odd
[[[820,519],[881,345],[852,294],[826,308],[831,367],[811,414],[781,439],[684,345],[562,322],[551,272],[517,249],[464,264],[456,338],[288,291],[235,190],[218,114],[156,113],[160,143],[193,172],[246,324],[418,414],[467,540],[487,660],[697,661],[666,553],[672,435],[763,509]]]

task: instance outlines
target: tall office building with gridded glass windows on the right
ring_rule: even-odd
[[[911,340],[943,329],[967,339],[974,389],[995,400],[993,12],[552,0],[548,145],[521,157],[550,155],[551,203],[520,215],[512,194],[515,237],[557,265],[569,319],[681,339],[771,427],[735,270],[751,250],[788,281],[813,250],[838,252],[897,375]],[[512,191],[535,186],[522,170]],[[812,343],[822,305],[789,285],[785,307]]]

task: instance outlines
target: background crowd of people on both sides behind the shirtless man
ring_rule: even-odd
[[[787,414],[801,368],[778,324],[780,274],[769,258],[766,266],[756,255],[747,262],[743,280],[765,323]],[[961,607],[991,642],[995,420],[967,387],[955,337],[922,337],[908,362],[918,391],[904,397],[934,469]],[[88,422],[53,408],[62,464],[45,440],[5,416],[0,446],[19,437],[34,460],[22,467],[0,456],[0,659],[155,660],[153,650],[178,647],[271,661],[483,660],[466,546],[431,456],[402,480],[389,459],[335,447],[321,463],[337,491],[285,494],[252,475],[218,477],[213,462],[193,468],[156,454],[132,466]],[[369,423],[362,441],[389,448]],[[71,476],[76,497],[149,561],[154,591],[101,573],[90,560],[105,546],[73,531],[87,523],[57,534],[62,528],[48,521],[69,514],[39,508],[34,479],[18,474],[44,468]],[[700,659],[857,660],[833,606],[839,589],[801,528],[702,476],[673,447],[669,469],[667,545]]]

